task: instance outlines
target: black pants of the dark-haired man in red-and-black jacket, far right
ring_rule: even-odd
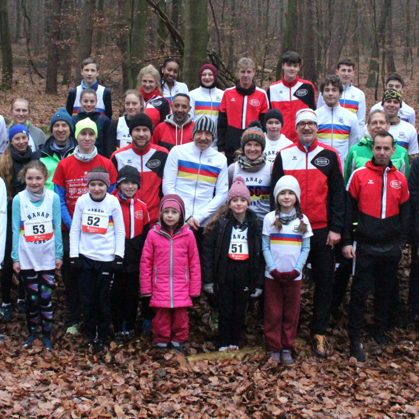
[[[348,336],[351,341],[360,340],[365,303],[372,285],[375,290],[374,330],[377,334],[384,332],[389,302],[393,298],[391,290],[397,282],[401,250],[397,243],[385,247],[357,243],[355,254],[348,321]]]

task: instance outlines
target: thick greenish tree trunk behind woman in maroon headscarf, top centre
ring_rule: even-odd
[[[208,2],[185,0],[184,82],[189,90],[199,87],[197,74],[207,60]]]

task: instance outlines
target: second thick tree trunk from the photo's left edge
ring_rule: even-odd
[[[58,73],[58,41],[60,28],[60,15],[62,0],[51,1],[51,13],[48,19],[51,25],[50,37],[48,41],[47,58],[47,82],[45,83],[45,93],[49,95],[57,94],[57,73]]]

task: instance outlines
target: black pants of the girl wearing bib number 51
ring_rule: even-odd
[[[238,345],[249,298],[248,263],[228,261],[224,284],[218,284],[220,346]]]

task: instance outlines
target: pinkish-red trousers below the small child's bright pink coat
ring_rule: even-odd
[[[153,307],[156,316],[151,321],[155,343],[182,343],[189,337],[189,316],[187,307]]]

